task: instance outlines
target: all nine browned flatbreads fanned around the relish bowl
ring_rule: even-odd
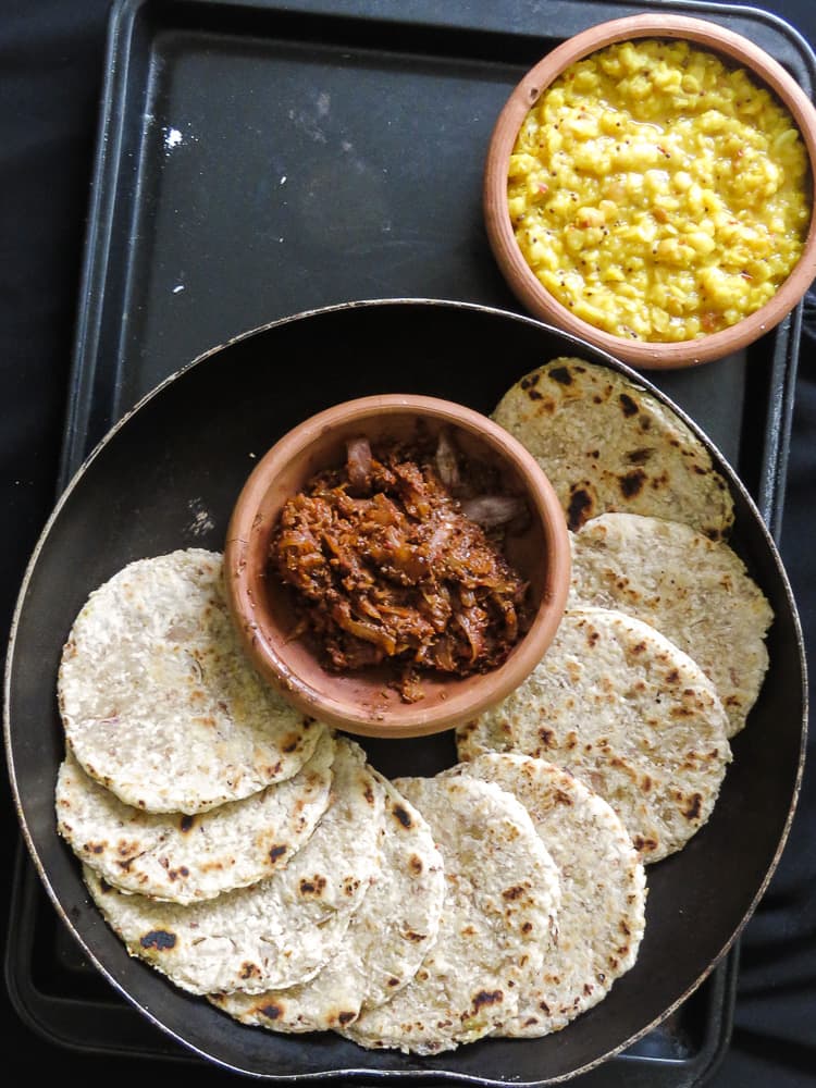
[[[59,832],[128,952],[243,1024],[417,1054],[561,1030],[635,963],[646,865],[715,808],[772,621],[727,482],[579,359],[494,415],[560,496],[572,584],[454,767],[390,781],[272,691],[218,553],[135,560],[66,641]]]

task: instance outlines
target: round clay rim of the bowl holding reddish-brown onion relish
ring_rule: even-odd
[[[489,672],[452,681],[453,694],[433,705],[423,706],[423,701],[412,704],[392,701],[387,710],[382,705],[372,709],[371,705],[367,707],[357,700],[338,697],[337,682],[325,670],[320,670],[320,683],[308,682],[264,632],[263,623],[270,619],[272,627],[280,630],[274,616],[270,617],[265,608],[267,595],[258,580],[262,578],[259,557],[267,553],[281,499],[273,500],[271,517],[259,517],[258,510],[274,487],[280,469],[290,466],[296,458],[296,463],[308,462],[308,452],[316,442],[337,431],[343,434],[344,429],[357,428],[374,416],[406,413],[459,428],[490,446],[509,465],[523,481],[533,517],[541,526],[547,568],[530,629],[505,663]],[[302,469],[298,471],[304,474]],[[304,478],[309,474],[306,472]],[[475,409],[419,394],[375,394],[342,401],[292,428],[249,473],[233,507],[224,545],[227,606],[245,652],[261,676],[302,713],[333,728],[394,739],[452,729],[514,691],[532,672],[555,636],[567,604],[570,565],[569,533],[562,507],[532,455],[504,428]],[[285,645],[285,639],[281,642]],[[378,690],[382,688],[381,680],[376,687]]]

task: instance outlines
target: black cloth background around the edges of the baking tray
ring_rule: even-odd
[[[398,0],[391,0],[398,8]],[[485,0],[487,2],[487,0]],[[522,2],[522,0],[519,0]],[[541,4],[539,4],[541,7]],[[816,45],[813,0],[769,10]],[[103,76],[108,0],[0,2],[0,551],[3,644],[25,565],[55,498],[73,348],[82,247]],[[816,535],[816,300],[808,300],[799,368],[782,557],[808,647],[816,631],[812,554]],[[812,656],[812,655],[811,655]],[[792,833],[768,892],[741,940],[731,1047],[715,1088],[816,1085],[816,777],[814,742]],[[5,940],[16,817],[2,794],[2,937]],[[165,1076],[139,1062],[52,1047],[23,1024],[5,989],[7,1053],[26,1077]],[[175,1075],[223,1084],[217,1071]]]

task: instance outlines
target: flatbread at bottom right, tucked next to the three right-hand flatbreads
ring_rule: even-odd
[[[646,924],[638,851],[610,806],[552,763],[492,752],[445,774],[496,782],[517,796],[558,868],[558,941],[502,1035],[558,1031],[605,998],[638,959]]]

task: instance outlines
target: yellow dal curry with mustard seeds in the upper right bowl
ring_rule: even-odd
[[[516,238],[541,283],[617,336],[735,324],[796,263],[811,218],[790,114],[684,41],[609,46],[528,113],[509,165]]]

